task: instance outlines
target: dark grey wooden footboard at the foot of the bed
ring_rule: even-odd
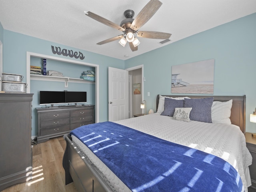
[[[94,168],[86,161],[83,154],[74,146],[70,135],[65,134],[64,139],[66,140],[66,150],[62,166],[65,170],[66,185],[74,181],[78,192],[111,191]]]

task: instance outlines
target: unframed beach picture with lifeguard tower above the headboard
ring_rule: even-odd
[[[171,93],[213,94],[214,59],[172,66]]]

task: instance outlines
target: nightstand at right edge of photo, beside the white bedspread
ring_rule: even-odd
[[[252,154],[252,165],[249,166],[252,186],[248,188],[248,192],[256,192],[256,138],[252,137],[252,133],[245,133],[246,147]]]

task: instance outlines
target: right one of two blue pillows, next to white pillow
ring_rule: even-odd
[[[213,97],[202,99],[184,99],[184,107],[192,107],[190,120],[212,123]]]

